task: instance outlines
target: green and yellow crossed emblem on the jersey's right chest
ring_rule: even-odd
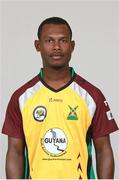
[[[67,117],[67,120],[78,120],[77,113],[76,113],[76,109],[78,108],[78,106],[72,108],[71,106],[68,105],[68,107],[70,109],[70,112]]]

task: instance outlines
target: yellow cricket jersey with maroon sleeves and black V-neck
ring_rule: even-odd
[[[118,129],[102,92],[70,71],[56,90],[41,69],[8,104],[2,132],[25,139],[32,179],[94,179],[92,139]]]

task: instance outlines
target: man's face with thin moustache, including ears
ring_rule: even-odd
[[[66,25],[46,24],[35,47],[41,53],[44,67],[62,68],[69,65],[74,41]]]

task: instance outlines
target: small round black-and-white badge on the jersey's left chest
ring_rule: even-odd
[[[44,106],[37,106],[33,111],[33,117],[37,121],[43,121],[47,115],[47,110]]]

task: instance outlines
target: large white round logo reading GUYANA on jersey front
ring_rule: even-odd
[[[62,129],[49,129],[41,139],[43,150],[50,156],[61,156],[66,153],[68,140]]]

